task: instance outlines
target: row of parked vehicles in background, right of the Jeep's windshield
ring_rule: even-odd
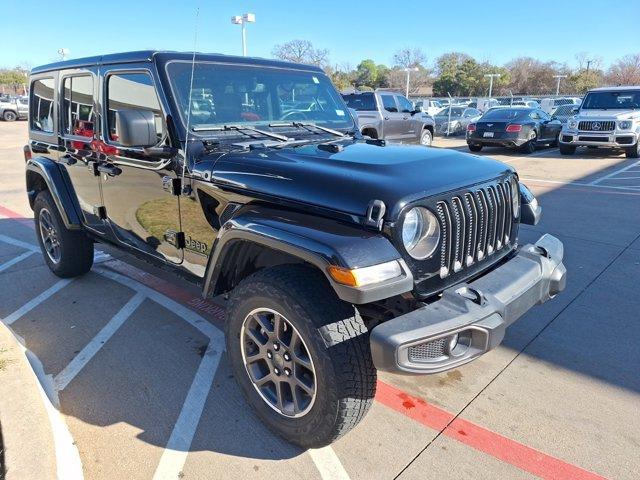
[[[563,155],[579,146],[640,153],[640,87],[600,88],[584,102],[575,97],[543,99],[438,100],[415,105],[389,91],[343,95],[355,111],[363,134],[429,146],[434,135],[466,135],[469,150],[502,146],[532,153],[538,146],[559,146]],[[508,101],[508,103],[507,103]]]

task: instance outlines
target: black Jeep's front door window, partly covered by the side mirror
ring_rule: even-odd
[[[118,142],[116,112],[118,110],[151,110],[156,120],[158,142],[164,136],[162,109],[153,81],[147,73],[118,73],[107,77],[108,140]]]

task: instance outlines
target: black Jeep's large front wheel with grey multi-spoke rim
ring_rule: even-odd
[[[227,355],[262,421],[304,448],[332,443],[365,416],[376,388],[366,326],[324,276],[260,270],[231,294]]]

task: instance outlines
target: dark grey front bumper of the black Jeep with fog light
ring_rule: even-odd
[[[506,328],[531,307],[564,290],[562,242],[542,236],[481,278],[455,285],[442,297],[371,331],[378,370],[438,373],[498,346]]]

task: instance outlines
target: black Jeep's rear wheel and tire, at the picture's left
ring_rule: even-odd
[[[49,269],[59,277],[83,275],[93,265],[93,241],[82,231],[68,230],[51,194],[44,190],[33,203],[38,243]]]

